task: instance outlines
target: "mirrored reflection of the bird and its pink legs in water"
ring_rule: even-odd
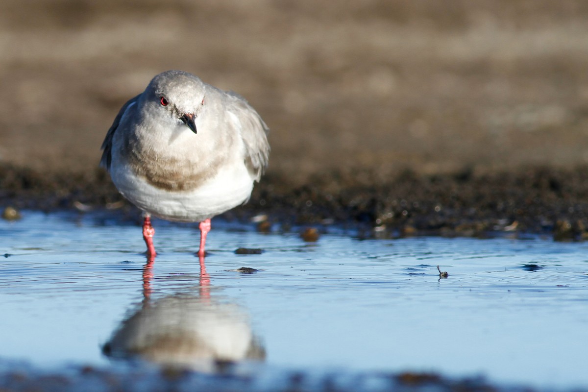
[[[163,367],[218,372],[243,360],[265,359],[245,312],[211,297],[210,278],[201,259],[198,294],[178,293],[153,300],[153,262],[143,268],[143,302],[122,321],[103,353],[142,359]]]

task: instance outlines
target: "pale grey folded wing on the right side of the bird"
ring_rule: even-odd
[[[269,159],[269,128],[258,112],[242,96],[228,92],[228,110],[240,125],[241,137],[245,144],[245,165],[259,181]]]

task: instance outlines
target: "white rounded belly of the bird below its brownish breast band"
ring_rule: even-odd
[[[253,178],[245,165],[220,167],[214,177],[191,190],[154,186],[128,165],[111,166],[112,182],[131,203],[145,212],[178,222],[201,222],[249,199]]]

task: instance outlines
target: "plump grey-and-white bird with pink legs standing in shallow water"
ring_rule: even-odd
[[[102,143],[100,166],[143,212],[155,259],[151,216],[200,222],[205,256],[211,218],[248,202],[268,166],[269,128],[247,100],[185,71],[165,71],[119,110]]]

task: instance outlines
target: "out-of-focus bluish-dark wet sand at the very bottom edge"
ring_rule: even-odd
[[[263,377],[261,377],[263,378]],[[155,371],[149,368],[112,372],[101,368],[72,368],[68,375],[44,373],[28,374],[24,367],[8,371],[0,378],[3,391],[59,390],[79,391],[91,387],[94,391],[532,391],[521,387],[495,387],[483,378],[445,378],[435,373],[330,373],[310,377],[303,373],[283,373],[271,380],[258,380],[244,375],[206,375],[179,370]]]

